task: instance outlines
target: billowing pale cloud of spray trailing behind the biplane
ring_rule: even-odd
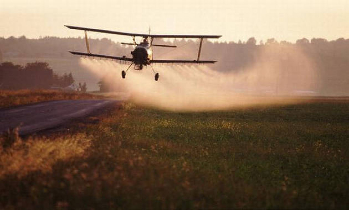
[[[154,80],[150,67],[121,70],[127,65],[98,59],[81,59],[98,77],[107,78],[115,89],[127,92],[129,100],[167,110],[222,110],[258,105],[295,103],[297,96],[316,89],[314,66],[296,47],[268,47],[249,67],[229,73],[207,65],[154,65],[160,78]],[[290,97],[292,96],[292,97]],[[296,97],[295,97],[296,96]]]

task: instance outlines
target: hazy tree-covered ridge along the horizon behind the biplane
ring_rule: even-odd
[[[93,53],[131,57],[130,52],[133,50],[132,46],[125,46],[107,38],[89,39],[89,42]],[[177,48],[154,47],[155,59],[194,60],[197,57],[198,40],[173,39],[173,42],[170,42],[155,39],[154,43],[177,46]],[[13,57],[54,57],[77,60],[76,56],[67,52],[68,50],[86,52],[84,39],[81,37],[27,39],[24,36],[0,38],[0,62],[1,59],[4,61],[6,58]],[[265,52],[273,53],[265,54]],[[296,43],[278,42],[273,38],[263,42],[253,37],[238,43],[205,40],[201,59],[218,60],[216,64],[211,65],[211,68],[216,71],[244,71],[251,67],[258,67],[259,63],[268,59],[277,60],[280,68],[288,70],[290,62],[297,62],[295,54],[307,57],[314,64],[324,88],[327,88],[326,84],[331,84],[331,86],[336,84],[337,89],[349,88],[349,39],[344,38],[333,41],[322,38],[311,40],[303,38],[297,40]]]

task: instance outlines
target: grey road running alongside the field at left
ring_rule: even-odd
[[[48,101],[16,108],[0,109],[0,133],[21,124],[19,133],[28,134],[83,117],[114,100]]]

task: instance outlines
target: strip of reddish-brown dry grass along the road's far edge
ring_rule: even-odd
[[[0,90],[0,108],[52,100],[100,99],[101,95],[58,90]]]

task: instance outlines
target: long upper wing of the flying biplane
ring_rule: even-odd
[[[221,36],[214,36],[214,35],[159,35],[159,34],[143,34],[143,33],[126,33],[126,32],[119,32],[119,31],[108,31],[108,30],[101,30],[101,29],[91,29],[91,28],[83,28],[79,26],[71,26],[71,25],[65,25],[69,29],[76,29],[76,30],[82,30],[82,31],[94,31],[94,32],[101,32],[101,33],[111,33],[111,34],[119,34],[119,35],[125,35],[125,36],[131,36],[131,37],[154,37],[154,38],[210,38],[210,39],[217,39]]]

